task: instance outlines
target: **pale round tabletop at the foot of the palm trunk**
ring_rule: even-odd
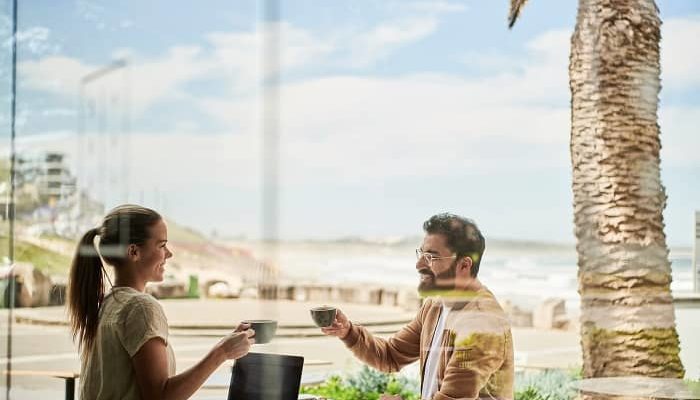
[[[592,395],[646,397],[650,399],[700,399],[700,390],[691,390],[683,379],[620,376],[574,381],[572,387]]]

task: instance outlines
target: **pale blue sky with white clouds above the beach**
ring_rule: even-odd
[[[17,145],[65,152],[108,207],[138,202],[210,233],[261,232],[263,37],[280,32],[279,229],[399,237],[432,214],[487,238],[573,243],[569,38],[577,2],[20,2]],[[664,211],[700,209],[700,2],[657,2]],[[0,2],[9,150],[11,2]],[[126,60],[97,79],[81,79]],[[82,133],[80,133],[82,132]]]

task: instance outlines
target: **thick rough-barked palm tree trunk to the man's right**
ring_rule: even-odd
[[[585,377],[682,377],[662,211],[653,0],[579,0],[569,65]]]

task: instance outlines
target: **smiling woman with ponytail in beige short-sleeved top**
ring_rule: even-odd
[[[82,357],[81,399],[187,399],[225,360],[243,357],[255,343],[255,332],[241,324],[201,361],[175,375],[163,308],[144,292],[147,282],[163,280],[165,262],[173,255],[167,242],[163,218],[136,205],[110,211],[80,240],[68,301]],[[114,267],[107,294],[100,256]]]

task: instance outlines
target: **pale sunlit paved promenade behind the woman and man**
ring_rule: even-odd
[[[317,376],[348,372],[359,367],[343,343],[323,336],[313,325],[309,308],[316,302],[287,300],[162,300],[171,330],[177,370],[194,364],[225,333],[243,319],[275,319],[278,335],[268,344],[255,345],[253,351],[302,355],[312,365],[304,371]],[[334,304],[355,323],[367,326],[374,333],[388,336],[398,330],[414,313],[399,307],[366,304]],[[13,369],[15,370],[79,370],[77,349],[70,340],[63,307],[16,309],[13,325]],[[7,310],[0,310],[0,329],[6,340]],[[578,335],[569,331],[545,331],[531,328],[513,329],[516,363],[521,368],[569,368],[580,363]],[[0,354],[6,363],[6,352]],[[211,398],[226,392],[229,371],[223,366],[194,398]],[[55,378],[15,377],[13,399],[41,398],[63,393],[63,382]],[[38,397],[37,397],[38,396]]]

